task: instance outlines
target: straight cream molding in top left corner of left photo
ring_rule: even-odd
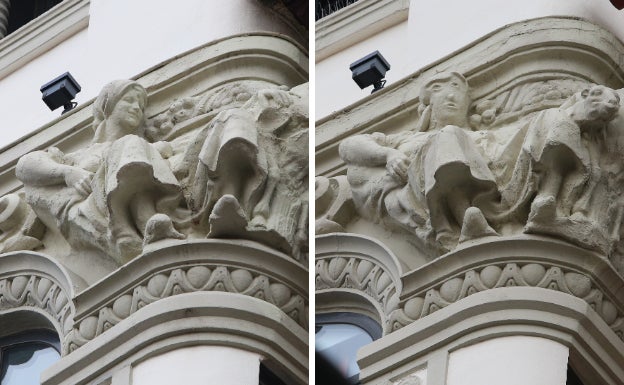
[[[85,29],[90,0],[65,0],[0,40],[0,79]]]

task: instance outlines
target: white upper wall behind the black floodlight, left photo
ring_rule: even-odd
[[[259,31],[300,38],[257,0],[91,0],[89,13],[88,29],[0,79],[0,147],[60,116],[39,88],[66,71],[82,86],[82,103],[111,80],[217,39]]]

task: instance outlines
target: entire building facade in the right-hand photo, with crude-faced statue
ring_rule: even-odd
[[[381,328],[354,343],[362,384],[624,383],[623,18],[360,0],[317,20],[316,313]],[[349,66],[374,51],[369,94]]]

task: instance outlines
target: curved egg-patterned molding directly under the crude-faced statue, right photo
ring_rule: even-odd
[[[478,292],[526,286],[582,299],[624,339],[624,280],[604,257],[565,242],[527,235],[475,242],[401,280],[399,309],[387,332]]]

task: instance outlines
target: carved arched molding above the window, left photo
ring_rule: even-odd
[[[83,284],[45,254],[19,251],[0,255],[0,317],[12,325],[4,331],[52,326],[62,340],[73,327],[71,299]]]

